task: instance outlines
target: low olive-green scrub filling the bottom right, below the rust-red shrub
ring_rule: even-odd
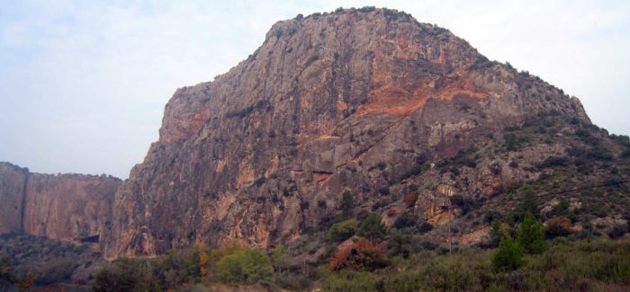
[[[376,272],[330,273],[326,291],[599,290],[601,283],[630,288],[630,238],[558,242],[526,255],[516,270],[493,271],[496,250],[465,249],[454,255],[419,252]]]

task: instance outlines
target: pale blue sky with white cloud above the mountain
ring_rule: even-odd
[[[445,27],[630,134],[630,1],[0,0],[0,161],[125,179],[176,88],[236,66],[274,22],[365,5]]]

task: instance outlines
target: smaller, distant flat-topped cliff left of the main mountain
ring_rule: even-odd
[[[0,234],[97,241],[121,182],[105,175],[30,173],[0,163]]]

